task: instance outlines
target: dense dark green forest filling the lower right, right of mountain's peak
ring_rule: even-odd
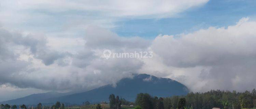
[[[142,109],[241,109],[256,107],[256,90],[252,92],[211,90],[205,93],[190,92],[185,96],[152,97],[147,93],[137,95],[135,104]],[[139,108],[138,108],[139,109]]]

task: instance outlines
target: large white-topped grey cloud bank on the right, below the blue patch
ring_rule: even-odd
[[[256,22],[247,20],[242,18],[237,25],[227,28],[210,27],[189,34],[159,35],[151,48],[165,65],[186,68],[184,76],[179,76],[192,91],[252,90],[256,87],[251,78],[256,76],[253,67],[256,64],[256,32],[253,30]],[[190,81],[198,82],[191,84]]]

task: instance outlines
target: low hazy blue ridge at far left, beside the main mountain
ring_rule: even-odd
[[[39,93],[39,94],[32,94],[29,96],[25,96],[22,98],[12,99],[4,102],[0,102],[0,104],[31,104],[35,105],[41,102],[43,99],[53,98],[53,97],[61,97],[65,95],[69,95],[70,93],[59,93],[59,92],[47,92],[47,93]]]

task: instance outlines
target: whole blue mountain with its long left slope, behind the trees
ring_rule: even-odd
[[[138,93],[149,93],[152,96],[167,97],[173,95],[186,95],[188,89],[185,85],[169,78],[158,78],[152,75],[139,74],[133,78],[123,78],[116,83],[105,85],[90,91],[61,95],[62,93],[49,92],[43,94],[33,94],[23,98],[9,100],[3,103],[8,104],[38,104],[55,103],[56,101],[82,104],[85,101],[97,103],[108,101],[110,94],[119,95],[127,100],[134,101]]]

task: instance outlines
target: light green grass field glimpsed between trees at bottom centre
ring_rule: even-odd
[[[76,106],[70,107],[69,109],[96,109],[97,104],[89,106]],[[121,109],[133,109],[134,106],[121,106]],[[109,104],[101,105],[102,109],[110,109]]]

